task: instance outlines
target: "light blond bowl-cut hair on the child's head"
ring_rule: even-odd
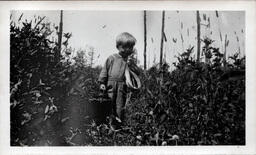
[[[118,48],[120,45],[134,46],[136,41],[137,40],[133,35],[128,32],[123,32],[116,37],[116,48]]]

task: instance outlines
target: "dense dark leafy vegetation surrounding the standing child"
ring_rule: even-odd
[[[245,58],[224,62],[205,38],[204,62],[187,49],[169,65],[141,69],[140,90],[128,93],[126,125],[88,116],[90,99],[99,94],[100,67],[93,54],[70,58],[69,33],[63,56],[56,59],[57,31],[45,23],[11,23],[11,145],[226,145],[245,144]],[[33,26],[35,25],[35,26]],[[163,80],[161,79],[163,75]]]

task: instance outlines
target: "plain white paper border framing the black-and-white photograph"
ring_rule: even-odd
[[[225,10],[245,11],[246,145],[137,147],[10,146],[11,10]],[[256,154],[256,1],[0,1],[0,154]]]

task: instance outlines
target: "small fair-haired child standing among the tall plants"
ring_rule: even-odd
[[[109,56],[99,75],[100,89],[107,90],[112,100],[112,113],[119,124],[124,121],[124,106],[126,102],[127,86],[125,84],[125,69],[128,56],[133,54],[136,39],[124,32],[116,38],[116,48],[119,51]]]

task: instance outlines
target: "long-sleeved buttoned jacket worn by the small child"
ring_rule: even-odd
[[[108,81],[125,81],[125,68],[127,60],[119,54],[109,56],[101,70],[98,81],[102,84],[107,84]]]

